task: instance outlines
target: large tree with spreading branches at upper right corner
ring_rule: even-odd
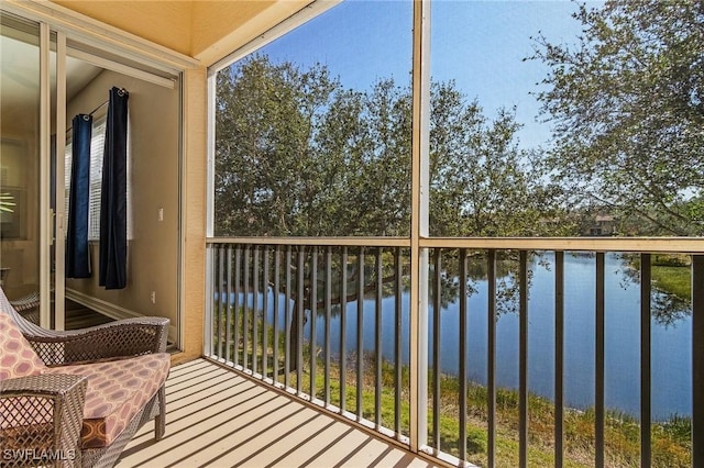
[[[547,158],[582,203],[640,220],[636,234],[704,234],[704,3],[580,5],[576,44],[535,38],[537,92],[553,123]]]

